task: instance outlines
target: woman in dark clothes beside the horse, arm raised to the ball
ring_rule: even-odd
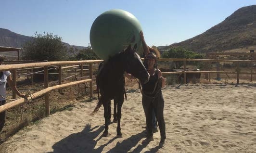
[[[164,98],[161,88],[165,86],[165,78],[162,76],[162,72],[157,69],[157,56],[160,57],[160,53],[147,46],[143,32],[140,32],[143,54],[144,54],[144,65],[150,74],[150,79],[146,84],[142,85],[142,106],[146,116],[146,129],[147,138],[142,141],[143,144],[147,144],[154,140],[153,133],[154,129],[154,114],[158,122],[160,129],[161,140],[159,147],[164,146],[166,140],[166,124],[164,119]],[[154,53],[157,55],[155,55]],[[130,74],[125,74],[128,78],[131,78]]]

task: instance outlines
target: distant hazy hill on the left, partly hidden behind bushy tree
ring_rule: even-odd
[[[21,48],[26,41],[31,41],[32,39],[33,37],[20,35],[8,29],[0,28],[0,46]],[[68,48],[75,47],[78,50],[86,48],[84,46],[75,46],[75,45],[71,46],[66,42],[63,42],[63,43]]]

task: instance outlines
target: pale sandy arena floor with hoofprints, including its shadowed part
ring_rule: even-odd
[[[0,153],[255,153],[256,86],[167,86],[163,95],[167,138],[162,148],[160,132],[141,144],[145,115],[141,93],[131,89],[122,107],[123,138],[115,137],[116,123],[109,126],[110,136],[102,137],[103,107],[90,115],[96,100],[78,102],[20,130],[0,145]]]

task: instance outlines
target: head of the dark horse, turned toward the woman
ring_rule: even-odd
[[[134,46],[136,48],[137,45]],[[149,80],[149,73],[141,61],[141,57],[135,52],[135,49],[128,46],[124,50],[123,62],[125,71],[132,76],[140,79],[141,83],[147,83]]]

